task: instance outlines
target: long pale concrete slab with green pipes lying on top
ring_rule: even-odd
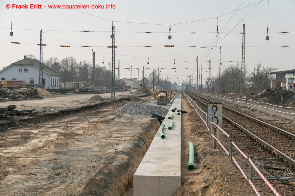
[[[181,187],[181,115],[171,112],[181,109],[181,98],[176,98],[163,123],[162,139],[157,133],[133,176],[133,195],[168,196]],[[169,127],[172,113],[173,128]]]

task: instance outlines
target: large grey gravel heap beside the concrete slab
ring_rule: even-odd
[[[140,116],[150,116],[152,114],[166,116],[166,114],[168,113],[168,109],[165,109],[158,105],[147,105],[144,103],[129,102],[116,112]]]

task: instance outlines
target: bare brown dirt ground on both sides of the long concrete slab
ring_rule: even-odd
[[[116,98],[122,100],[105,104],[110,93],[99,94],[99,102],[90,101],[92,96],[9,102],[46,111],[6,119],[13,126],[0,130],[1,195],[132,195],[132,175],[160,123],[115,111],[128,100],[153,97],[119,92]],[[175,195],[255,195],[224,151],[213,149],[205,124],[186,99],[181,109],[188,113],[181,115],[182,186]],[[195,147],[193,171],[187,169],[188,142]],[[266,186],[259,189],[272,195]]]

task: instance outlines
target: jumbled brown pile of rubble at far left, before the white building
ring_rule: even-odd
[[[21,101],[31,100],[34,96],[33,88],[14,88],[9,90],[0,83],[0,101]]]

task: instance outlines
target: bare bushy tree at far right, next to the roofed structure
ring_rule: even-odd
[[[271,80],[274,79],[272,72],[278,68],[263,67],[261,62],[255,65],[255,70],[250,73],[249,76],[249,87],[255,93],[260,93],[266,88],[271,87]]]

